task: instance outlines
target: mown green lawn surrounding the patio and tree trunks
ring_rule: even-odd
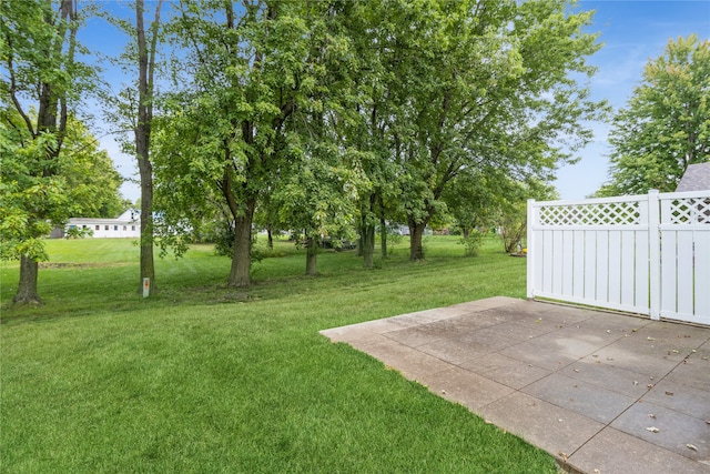
[[[278,242],[243,294],[209,246],[156,262],[138,295],[130,241],[50,241],[41,307],[3,303],[0,470],[42,472],[544,473],[552,458],[320,330],[525,295],[525,262],[487,241],[406,242],[364,270],[354,252]],[[16,264],[2,266],[2,302]]]

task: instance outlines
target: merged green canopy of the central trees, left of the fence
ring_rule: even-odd
[[[371,260],[385,219],[420,230],[462,211],[471,228],[493,177],[546,178],[590,138],[602,105],[570,77],[594,72],[598,46],[569,7],[181,3],[166,32],[184,56],[153,135],[160,211],[194,226],[217,208],[245,230],[256,212],[313,236],[356,222]],[[476,210],[448,209],[459,177],[489,170]]]

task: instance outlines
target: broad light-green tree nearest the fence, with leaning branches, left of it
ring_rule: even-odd
[[[495,167],[546,177],[590,138],[582,127],[601,105],[572,79],[591,74],[598,49],[581,32],[590,12],[567,0],[432,1],[418,12],[405,61],[410,104],[402,135],[402,192],[412,260],[453,180]],[[571,151],[570,151],[571,150]]]

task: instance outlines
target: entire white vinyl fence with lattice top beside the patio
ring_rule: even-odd
[[[710,324],[710,191],[528,202],[528,297]]]

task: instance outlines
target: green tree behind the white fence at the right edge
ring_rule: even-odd
[[[710,161],[710,42],[668,42],[609,133],[609,181],[600,196],[672,192],[686,168]]]

